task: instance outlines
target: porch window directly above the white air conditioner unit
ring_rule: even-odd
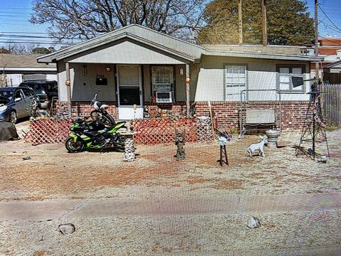
[[[153,92],[173,92],[173,67],[153,67],[151,73]]]

